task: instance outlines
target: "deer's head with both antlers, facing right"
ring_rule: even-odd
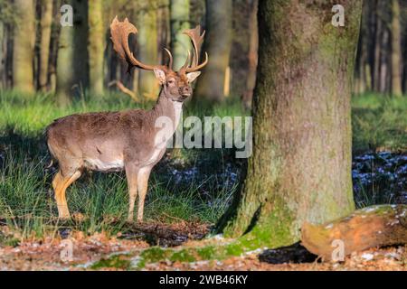
[[[119,22],[118,16],[116,16],[110,24],[110,33],[114,50],[123,61],[128,63],[128,72],[133,67],[154,71],[164,95],[174,101],[183,102],[185,98],[192,95],[191,83],[201,74],[199,70],[208,63],[208,54],[205,52],[205,61],[199,64],[201,46],[204,41],[204,33],[201,34],[199,25],[184,32],[191,38],[194,45],[194,55],[191,61],[191,53],[188,51],[185,64],[178,71],[173,70],[173,56],[166,48],[169,57],[167,65],[148,65],[137,60],[128,47],[128,35],[137,33],[137,28],[128,22],[128,18]]]

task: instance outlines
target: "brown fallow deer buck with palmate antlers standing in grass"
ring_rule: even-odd
[[[156,106],[151,110],[76,114],[56,119],[47,127],[48,148],[53,159],[59,163],[59,171],[52,181],[59,218],[70,218],[65,191],[80,178],[83,170],[125,170],[129,192],[128,221],[133,220],[137,192],[137,220],[142,221],[151,169],[165,154],[166,141],[175,132],[183,102],[192,95],[191,83],[200,75],[198,70],[208,63],[207,53],[205,61],[199,63],[204,41],[204,33],[201,34],[200,30],[198,25],[184,32],[193,43],[193,58],[188,51],[184,66],[174,71],[173,57],[168,50],[168,65],[148,65],[138,61],[128,47],[128,36],[130,33],[136,34],[137,28],[127,18],[119,22],[115,17],[110,24],[114,50],[128,63],[128,72],[134,67],[154,71],[161,91]],[[161,127],[156,127],[159,117],[168,117],[173,123],[163,134],[164,139],[157,137],[162,133]]]

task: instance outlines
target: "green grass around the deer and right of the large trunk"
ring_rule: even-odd
[[[353,98],[352,105],[354,152],[383,147],[406,149],[407,98],[363,95]],[[51,95],[22,96],[0,90],[0,219],[18,228],[22,238],[56,234],[58,228],[66,226],[56,219],[51,189],[54,171],[45,169],[50,156],[43,129],[53,119],[86,111],[152,106],[151,102],[135,104],[126,96],[107,94],[103,98],[85,95],[71,107],[60,108]],[[185,116],[247,114],[233,98],[216,107],[190,103],[185,109]],[[230,149],[172,150],[170,158],[153,170],[146,219],[214,223],[230,203],[239,179],[230,177],[241,165],[232,154]],[[173,175],[175,170],[185,172],[181,182]],[[126,226],[128,191],[124,173],[85,174],[69,188],[67,196],[71,212],[85,216],[83,221],[69,224],[71,228],[90,234],[101,230],[116,234]]]

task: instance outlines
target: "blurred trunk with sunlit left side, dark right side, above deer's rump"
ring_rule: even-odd
[[[62,106],[88,84],[87,3],[71,0],[67,4],[73,7],[73,27],[61,27],[56,68],[55,93]]]

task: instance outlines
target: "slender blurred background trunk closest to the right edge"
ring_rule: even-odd
[[[399,0],[392,0],[392,94],[402,96],[402,34]]]

